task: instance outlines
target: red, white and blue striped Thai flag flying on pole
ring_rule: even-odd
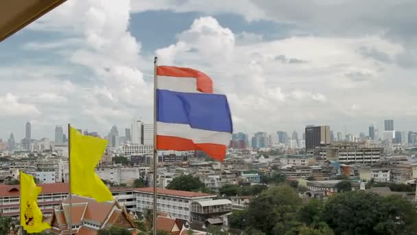
[[[156,76],[156,149],[203,150],[222,161],[233,131],[226,96],[195,69],[158,66]]]

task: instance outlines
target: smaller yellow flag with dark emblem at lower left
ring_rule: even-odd
[[[21,174],[21,225],[28,233],[42,232],[51,226],[43,223],[42,212],[38,208],[38,194],[42,188],[36,186],[34,177]]]

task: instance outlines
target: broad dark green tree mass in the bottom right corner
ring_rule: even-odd
[[[322,220],[335,234],[416,234],[416,207],[399,197],[364,191],[335,194]]]

